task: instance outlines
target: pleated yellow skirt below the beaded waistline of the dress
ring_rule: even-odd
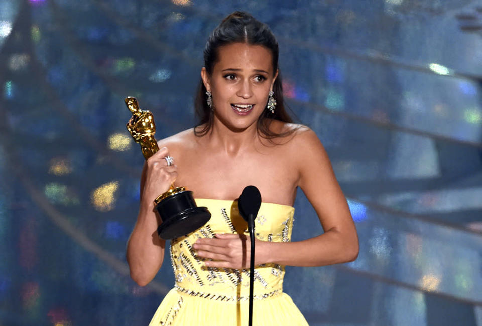
[[[164,297],[150,326],[247,326],[249,301],[218,301],[172,289]],[[286,293],[254,300],[253,325],[308,325]]]

